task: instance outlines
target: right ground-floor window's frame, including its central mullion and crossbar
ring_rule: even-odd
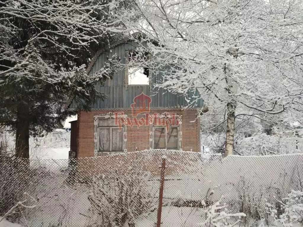
[[[171,113],[158,114],[157,118],[171,118]],[[178,128],[178,147],[176,150],[182,150],[182,115],[175,114],[176,120],[179,121],[178,126],[169,126],[169,128]],[[152,119],[152,120],[150,120]],[[149,147],[155,149],[155,128],[164,127],[165,128],[165,149],[167,149],[167,129],[166,126],[155,125],[153,114],[149,114]]]

